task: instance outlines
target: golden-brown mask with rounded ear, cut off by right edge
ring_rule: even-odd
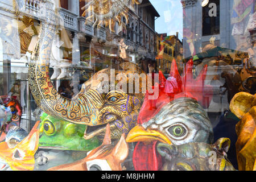
[[[237,93],[230,110],[241,119],[236,125],[237,162],[240,171],[256,171],[256,94]]]

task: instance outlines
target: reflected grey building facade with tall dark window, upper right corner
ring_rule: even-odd
[[[205,6],[202,2],[181,0],[184,57],[205,51],[209,44],[254,57],[255,1],[209,0]]]

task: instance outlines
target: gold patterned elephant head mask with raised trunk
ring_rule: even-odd
[[[112,68],[97,72],[82,85],[80,93],[72,100],[61,96],[49,78],[48,67],[49,52],[56,31],[56,15],[51,3],[46,2],[45,8],[47,23],[42,26],[37,42],[39,49],[34,52],[28,70],[28,83],[36,104],[52,117],[90,126],[86,128],[85,139],[94,136],[104,138],[106,123],[110,123],[113,139],[119,139],[122,133],[127,134],[137,124],[144,94],[142,92],[127,94],[127,90],[117,88],[118,81],[115,79],[113,85],[106,84],[108,81],[102,85],[99,77],[105,75],[110,80],[120,73],[122,80],[126,81],[123,84],[128,84],[129,73],[140,75],[143,71],[138,65],[123,61],[121,64],[113,65]],[[115,69],[114,75],[112,69]],[[99,88],[114,90],[106,94]]]

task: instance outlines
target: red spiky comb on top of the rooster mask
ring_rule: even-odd
[[[201,106],[208,108],[212,100],[212,86],[204,85],[207,74],[207,65],[200,72],[199,76],[193,78],[193,60],[189,60],[185,66],[185,73],[180,76],[176,61],[172,61],[170,77],[164,77],[159,71],[159,84],[152,86],[153,91],[159,91],[158,98],[152,100],[150,93],[146,93],[141,111],[138,116],[138,124],[147,122],[154,117],[160,109],[169,102],[180,98],[189,97],[197,100]]]

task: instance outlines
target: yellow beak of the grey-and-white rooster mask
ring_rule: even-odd
[[[137,125],[130,130],[126,137],[126,142],[152,142],[159,140],[163,143],[171,144],[171,140],[166,135],[153,129],[144,129],[142,126]]]

